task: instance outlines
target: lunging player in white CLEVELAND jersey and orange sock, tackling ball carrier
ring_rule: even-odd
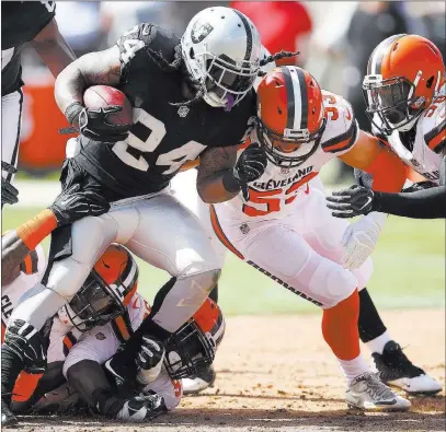
[[[258,89],[258,116],[244,147],[260,142],[268,156],[266,170],[249,184],[249,197],[239,194],[211,206],[217,236],[239,258],[323,308],[323,337],[347,378],[348,405],[408,409],[410,402],[382,384],[359,353],[357,290],[368,281],[371,261],[347,269],[355,267],[352,253],[361,247],[355,237],[370,227],[379,233],[385,215],[370,213],[353,225],[331,217],[318,177],[338,156],[375,174],[376,189],[399,190],[405,179],[403,164],[358,130],[345,100],[321,91],[297,67],[266,74]],[[345,248],[344,233],[350,234]]]

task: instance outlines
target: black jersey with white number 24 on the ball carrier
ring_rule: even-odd
[[[105,143],[80,137],[77,162],[116,199],[152,194],[164,188],[180,167],[206,148],[237,145],[251,116],[255,93],[250,92],[230,112],[204,101],[190,106],[182,92],[184,71],[160,65],[152,51],[168,62],[180,39],[153,24],[136,25],[117,45],[122,90],[134,107],[134,126],[125,141]]]

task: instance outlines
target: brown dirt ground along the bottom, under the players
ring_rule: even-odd
[[[444,311],[387,312],[393,337],[418,365],[445,382]],[[445,431],[445,393],[412,399],[409,413],[358,415],[343,402],[341,371],[320,335],[320,317],[227,319],[214,388],[184,398],[150,425],[23,418],[26,432]],[[367,349],[364,353],[368,357]]]

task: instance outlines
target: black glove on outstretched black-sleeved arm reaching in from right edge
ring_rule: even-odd
[[[371,189],[354,185],[348,189],[334,191],[327,197],[327,207],[334,210],[331,214],[336,218],[354,218],[359,214],[368,214],[370,211],[379,211],[374,208],[375,194]]]

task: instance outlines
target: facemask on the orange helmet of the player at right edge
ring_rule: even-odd
[[[386,135],[410,130],[425,108],[425,98],[415,96],[415,84],[404,77],[382,80],[381,75],[366,75],[363,94],[368,118]]]

